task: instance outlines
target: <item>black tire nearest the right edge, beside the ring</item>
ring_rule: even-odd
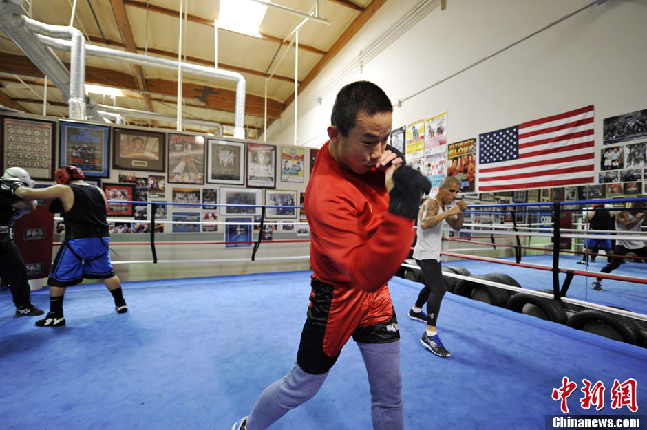
[[[643,336],[633,321],[602,310],[586,309],[574,314],[566,325],[584,332],[599,334],[614,341],[643,345]]]

